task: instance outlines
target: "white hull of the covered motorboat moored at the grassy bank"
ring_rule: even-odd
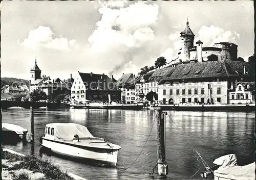
[[[116,167],[117,164],[118,149],[79,147],[67,142],[48,140],[43,137],[40,137],[40,145],[58,155],[83,160],[85,163],[104,164],[112,167]]]

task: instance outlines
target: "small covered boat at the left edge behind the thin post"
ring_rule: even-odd
[[[26,138],[27,133],[28,130],[21,126],[9,123],[2,123],[2,137],[5,140],[18,141],[22,138]]]

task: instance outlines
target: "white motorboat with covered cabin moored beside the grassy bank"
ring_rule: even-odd
[[[94,137],[87,127],[75,123],[50,123],[45,136],[40,137],[41,146],[70,158],[116,166],[120,146]]]

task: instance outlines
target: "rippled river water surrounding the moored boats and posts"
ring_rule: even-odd
[[[213,166],[220,156],[234,153],[238,165],[254,162],[254,113],[242,112],[178,112],[166,115],[166,161],[170,179],[190,178],[200,164],[188,141]],[[169,117],[170,116],[170,117]],[[157,163],[156,111],[130,110],[34,110],[35,153],[39,154],[39,137],[45,125],[52,122],[73,122],[88,127],[95,137],[120,145],[116,168],[98,167],[44,155],[63,170],[87,179],[152,179],[148,173]],[[3,110],[3,122],[20,125],[30,130],[30,110]],[[154,124],[154,125],[153,125]],[[152,128],[153,125],[153,128]],[[148,134],[152,132],[137,161]],[[188,140],[188,141],[187,141]],[[30,144],[3,144],[25,155]],[[123,164],[123,165],[122,165]],[[201,170],[203,170],[201,165]],[[200,172],[193,178],[202,179]],[[157,172],[157,170],[155,171]],[[155,174],[157,175],[157,174]]]

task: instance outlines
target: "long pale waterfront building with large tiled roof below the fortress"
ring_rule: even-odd
[[[162,104],[228,104],[228,89],[241,78],[254,80],[251,64],[230,60],[179,64],[169,67],[161,79],[158,100]]]

